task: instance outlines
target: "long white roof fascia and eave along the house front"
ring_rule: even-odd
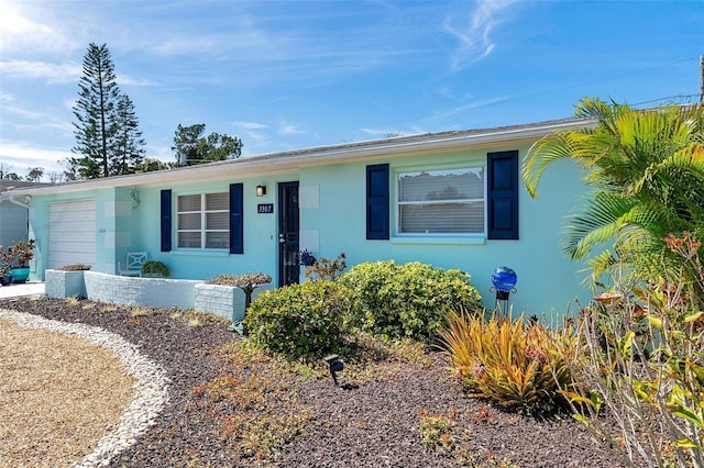
[[[155,187],[194,181],[243,179],[274,174],[295,174],[300,167],[319,166],[329,163],[353,161],[388,155],[400,156],[438,149],[471,148],[506,142],[536,141],[560,130],[593,127],[595,124],[595,120],[565,119],[562,121],[480,131],[400,136],[346,145],[245,156],[201,166],[188,166],[129,176],[14,189],[12,192],[16,194],[68,193],[117,187]]]

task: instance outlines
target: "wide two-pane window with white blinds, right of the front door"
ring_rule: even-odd
[[[398,174],[399,234],[484,234],[483,167]]]

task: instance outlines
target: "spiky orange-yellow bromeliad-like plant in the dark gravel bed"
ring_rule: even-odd
[[[571,327],[550,331],[524,323],[452,312],[442,332],[466,391],[525,413],[552,412],[566,406],[562,391],[574,387],[569,363],[576,349]]]

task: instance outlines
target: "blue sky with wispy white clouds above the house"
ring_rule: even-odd
[[[698,99],[704,1],[0,0],[0,163],[72,156],[106,43],[147,157],[178,124],[243,155],[572,115],[583,97]]]

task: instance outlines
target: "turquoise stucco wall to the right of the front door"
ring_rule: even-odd
[[[499,148],[513,149],[512,147]],[[527,147],[520,147],[520,155]],[[437,167],[459,161],[481,164],[486,152],[427,155],[392,160],[392,174],[407,168]],[[588,291],[581,285],[584,265],[565,258],[560,249],[563,218],[580,202],[584,192],[579,168],[570,161],[552,167],[532,200],[521,187],[519,192],[518,241],[490,241],[485,237],[398,236],[392,200],[392,238],[365,238],[365,163],[315,168],[301,171],[301,185],[318,183],[320,208],[301,209],[301,230],[317,230],[317,256],[334,258],[344,253],[348,264],[394,259],[421,261],[441,268],[459,268],[472,276],[472,283],[487,308],[494,305],[492,271],[509,266],[518,275],[517,293],[510,296],[514,313],[541,315],[574,310],[574,298],[585,301]],[[392,176],[393,177],[393,176]],[[394,181],[392,181],[392,185]],[[394,189],[392,189],[394,198]]]

